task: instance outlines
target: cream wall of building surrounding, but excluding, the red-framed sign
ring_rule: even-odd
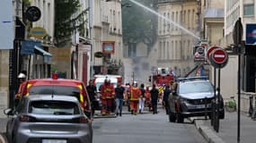
[[[104,41],[114,41],[115,53],[111,55],[111,61],[119,63],[123,59],[121,3],[118,0],[110,2],[95,0],[92,5],[93,53],[102,52]],[[93,66],[103,66],[102,60],[93,57]]]

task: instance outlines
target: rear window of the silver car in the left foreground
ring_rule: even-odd
[[[80,114],[78,105],[66,101],[32,101],[29,109],[31,114]]]

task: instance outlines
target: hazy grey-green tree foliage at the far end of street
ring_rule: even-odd
[[[157,6],[157,0],[137,0],[137,2],[153,10]],[[142,42],[146,46],[153,46],[157,38],[157,16],[129,0],[122,1],[122,5],[124,44]]]

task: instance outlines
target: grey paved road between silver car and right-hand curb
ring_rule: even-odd
[[[159,114],[123,114],[93,121],[93,143],[206,143],[193,123],[171,123]]]

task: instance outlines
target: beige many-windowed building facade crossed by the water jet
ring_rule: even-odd
[[[195,0],[158,4],[158,13],[170,21],[158,19],[157,66],[172,67],[178,76],[186,74],[194,66],[192,46],[199,41],[197,6]]]

